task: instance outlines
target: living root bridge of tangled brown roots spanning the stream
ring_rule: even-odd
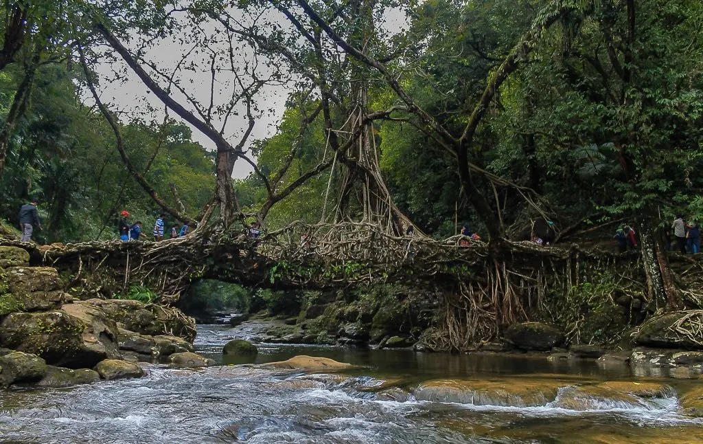
[[[604,270],[645,293],[638,252],[615,254],[576,245],[538,246],[505,241],[498,252],[482,242],[389,235],[370,224],[292,224],[260,239],[245,234],[211,236],[195,231],[153,242],[91,242],[21,246],[34,265],[56,267],[71,293],[112,297],[131,286],[148,286],[174,303],[193,281],[218,279],[245,286],[325,289],[402,283],[439,290],[441,348],[465,350],[494,338],[505,325],[531,319],[549,298],[573,291]],[[703,306],[697,292],[703,261],[673,256],[672,265],[688,305]],[[652,308],[657,301],[650,300]]]

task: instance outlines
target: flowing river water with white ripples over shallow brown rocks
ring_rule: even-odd
[[[246,326],[198,326],[196,351],[222,362],[224,343],[251,334]],[[142,379],[13,388],[0,392],[0,443],[703,443],[703,421],[683,414],[679,395],[701,379],[643,377],[588,360],[297,345],[260,345],[255,362],[295,355],[360,368],[303,374],[227,365],[238,362],[198,371],[150,364]],[[417,387],[437,379],[488,389],[458,399],[420,396]],[[671,390],[656,398],[576,391],[603,381]],[[555,399],[529,406],[490,395],[501,384],[539,391],[555,383]]]

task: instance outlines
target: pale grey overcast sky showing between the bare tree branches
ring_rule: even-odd
[[[288,25],[288,22],[283,20],[280,20],[279,23]],[[390,32],[398,32],[405,24],[404,14],[399,10],[395,10],[386,14],[385,23],[382,26]],[[146,58],[157,64],[161,69],[172,70],[176,67],[179,60],[181,60],[183,53],[189,49],[188,46],[182,46],[175,40],[162,42],[153,50],[149,51]],[[244,65],[246,61],[252,61],[253,55],[249,51],[242,50],[238,53],[238,58],[238,63]],[[120,65],[122,65],[122,63],[120,63]],[[106,80],[112,77],[112,70],[121,70],[122,68],[124,68],[124,65],[119,67],[115,65],[102,65],[98,67],[98,72],[101,74],[101,78],[103,78],[101,82],[101,98],[103,101],[109,103],[111,108],[116,108],[122,113],[125,113],[125,115],[141,115],[147,120],[162,120],[164,109],[162,102],[148,91],[148,88],[134,75],[134,72],[128,70],[128,80],[123,82],[108,82]],[[209,65],[207,63],[198,63],[198,71],[187,72],[185,75],[188,77],[185,77],[185,75],[182,76],[182,84],[183,87],[187,89],[188,94],[197,98],[198,101],[205,101],[207,103],[209,102],[211,81]],[[162,85],[165,84],[165,82],[159,83]],[[218,82],[216,85],[216,89],[221,91],[222,100],[219,101],[219,103],[226,103],[232,91],[231,85],[225,83],[226,82]],[[251,142],[255,139],[264,139],[276,133],[276,128],[280,123],[285,109],[285,100],[288,98],[290,91],[290,87],[273,85],[267,85],[259,91],[259,94],[257,94],[257,106],[259,106],[261,110],[266,110],[266,113],[257,119],[247,147],[250,146]],[[89,100],[89,102],[90,101],[91,100]],[[182,100],[181,103],[186,104]],[[215,103],[218,103],[217,97],[215,98]],[[149,113],[149,106],[160,111]],[[245,108],[240,107],[237,109],[242,115],[231,118],[224,132],[226,139],[233,145],[236,145],[240,140],[241,134],[243,134],[247,126],[247,120],[244,115]],[[169,115],[172,118],[181,120],[172,112],[169,113]],[[193,129],[193,139],[206,148],[214,149],[212,141],[196,129]],[[252,168],[250,165],[239,160],[235,165],[233,175],[236,178],[243,178],[247,177],[251,171]]]

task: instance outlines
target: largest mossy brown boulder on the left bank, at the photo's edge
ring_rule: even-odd
[[[0,323],[0,345],[70,368],[93,367],[120,356],[115,323],[100,310],[79,304],[51,312],[11,313]]]

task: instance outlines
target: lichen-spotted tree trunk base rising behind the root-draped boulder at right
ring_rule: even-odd
[[[642,262],[647,275],[647,291],[650,300],[657,304],[657,308],[666,307],[667,310],[678,310],[683,306],[681,294],[673,281],[666,252],[654,236],[654,231],[643,224],[640,231],[642,243]]]

